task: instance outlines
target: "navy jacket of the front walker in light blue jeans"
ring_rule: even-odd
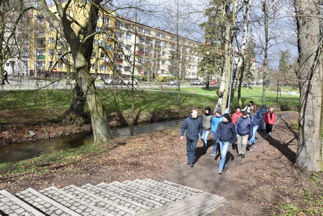
[[[230,142],[236,138],[236,130],[231,118],[227,122],[219,123],[214,140],[218,140],[218,137],[222,142]]]

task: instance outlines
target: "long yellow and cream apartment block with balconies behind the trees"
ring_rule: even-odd
[[[62,1],[63,4],[65,1]],[[82,1],[73,1],[67,13],[84,25],[89,10]],[[50,7],[55,11],[56,7]],[[37,11],[33,11],[35,32],[30,45],[30,74],[63,76],[73,73],[73,61],[67,42],[57,34]],[[79,26],[72,26],[75,32]],[[114,13],[99,12],[97,17],[91,61],[91,74],[105,79],[112,76],[146,75],[153,78],[180,76],[197,78],[197,65],[201,61],[196,48],[199,43],[172,34],[159,27],[154,28],[138,22],[116,18]],[[51,71],[53,73],[51,73]]]

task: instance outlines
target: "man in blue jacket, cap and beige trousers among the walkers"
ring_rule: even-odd
[[[245,110],[242,113],[242,116],[236,122],[235,129],[238,136],[238,157],[244,158],[248,137],[252,136],[252,122],[248,116],[248,112]]]

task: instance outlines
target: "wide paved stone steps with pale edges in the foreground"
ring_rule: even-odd
[[[0,191],[0,215],[206,215],[224,197],[151,179]]]

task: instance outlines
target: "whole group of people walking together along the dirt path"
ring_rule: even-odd
[[[187,165],[194,167],[196,145],[199,138],[203,141],[203,154],[206,153],[207,138],[212,132],[213,145],[210,156],[221,154],[219,174],[222,174],[227,166],[226,156],[230,143],[232,146],[237,144],[237,156],[245,158],[246,147],[255,144],[259,125],[260,131],[263,131],[265,123],[266,136],[268,136],[272,134],[275,121],[276,115],[273,107],[268,110],[266,104],[262,103],[258,109],[253,101],[250,101],[244,109],[238,106],[231,117],[228,113],[222,115],[221,110],[217,110],[214,115],[211,115],[210,107],[206,107],[205,113],[199,118],[197,111],[193,110],[181,127],[181,139],[184,139],[186,131]],[[250,138],[249,141],[248,138]]]

